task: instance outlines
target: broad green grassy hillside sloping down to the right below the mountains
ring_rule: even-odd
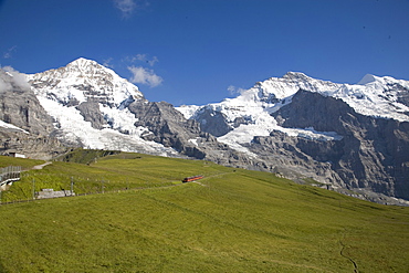
[[[206,178],[180,183],[192,175]],[[370,203],[266,172],[136,154],[107,156],[90,166],[53,162],[28,171],[20,183],[42,176],[75,176],[84,183],[104,178],[135,190],[0,206],[0,272],[409,267],[409,208]]]

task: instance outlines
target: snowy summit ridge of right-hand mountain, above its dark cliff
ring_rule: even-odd
[[[254,107],[263,112],[275,112],[290,103],[292,96],[300,90],[340,98],[364,115],[409,120],[407,115],[409,113],[409,82],[370,74],[364,76],[358,84],[338,84],[316,80],[300,72],[289,72],[282,77],[270,77],[258,82],[234,98],[209,104],[206,107],[221,111],[230,117],[228,119],[232,123],[237,117],[251,116]],[[187,106],[180,108],[190,118],[193,115],[189,116],[191,111],[188,109]],[[229,109],[234,111],[229,112]]]

